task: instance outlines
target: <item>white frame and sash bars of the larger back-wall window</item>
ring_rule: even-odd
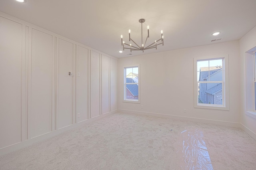
[[[202,83],[222,83],[222,105],[198,103],[198,81],[197,81],[197,62],[223,59],[222,61],[222,81],[204,81]],[[229,73],[228,55],[205,56],[194,58],[194,107],[202,109],[229,110]]]

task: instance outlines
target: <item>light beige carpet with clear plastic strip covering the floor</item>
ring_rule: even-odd
[[[115,113],[0,156],[1,170],[255,170],[240,128]]]

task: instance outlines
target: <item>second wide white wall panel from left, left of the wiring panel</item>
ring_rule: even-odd
[[[52,35],[32,29],[30,137],[52,130]]]

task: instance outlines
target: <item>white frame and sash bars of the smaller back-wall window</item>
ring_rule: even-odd
[[[128,68],[134,68],[138,67],[138,83],[126,83],[126,69]],[[140,103],[140,64],[134,64],[134,65],[129,65],[129,66],[124,66],[124,96],[123,96],[123,102],[128,102],[128,103]],[[126,99],[126,84],[138,84],[138,100],[133,100],[133,99]]]

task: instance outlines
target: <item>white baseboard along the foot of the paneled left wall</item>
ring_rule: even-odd
[[[81,121],[80,123],[76,123],[74,125],[70,125],[70,126],[58,129],[58,130],[54,130],[52,132],[48,132],[46,134],[42,134],[40,136],[31,138],[31,139],[28,139],[28,140],[24,140],[22,142],[18,142],[16,144],[12,144],[10,146],[6,146],[6,147],[0,149],[0,156],[4,155],[4,154],[8,154],[8,153],[13,152],[13,151],[18,150],[18,149],[25,148],[25,147],[30,146],[32,144],[35,144],[37,142],[41,142],[43,140],[46,140],[48,138],[51,138],[53,136],[56,136],[56,135],[61,134],[63,132],[66,132],[68,130],[72,130],[74,128],[77,128],[77,127],[80,127],[80,126],[83,126],[83,125],[88,125],[88,124],[90,124],[90,123],[92,123],[94,121],[98,121],[98,120],[100,120],[100,119],[102,119],[104,117],[108,117],[108,116],[110,116],[110,115],[112,115],[112,114],[114,114],[116,112],[117,112],[117,110],[111,111],[111,112],[108,112],[108,113],[106,113],[104,115],[100,115],[98,117],[87,119],[85,121]]]

